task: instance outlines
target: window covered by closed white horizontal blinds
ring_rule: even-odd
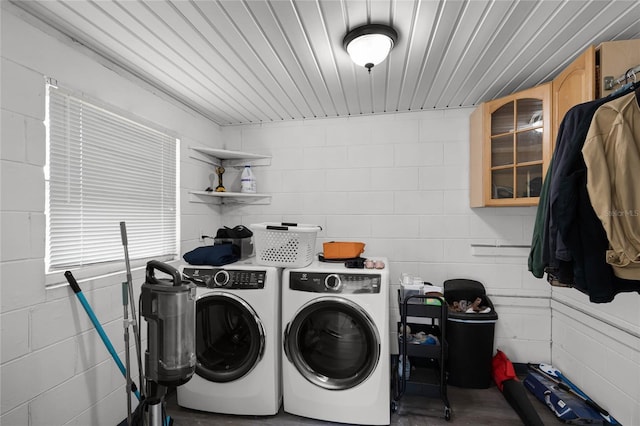
[[[177,254],[179,141],[47,85],[48,272]]]

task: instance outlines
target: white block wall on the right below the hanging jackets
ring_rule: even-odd
[[[551,300],[553,364],[624,425],[640,424],[640,295],[611,303],[556,288]]]

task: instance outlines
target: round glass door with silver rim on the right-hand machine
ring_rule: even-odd
[[[319,297],[287,324],[287,358],[311,383],[349,389],[367,380],[380,359],[380,335],[369,314],[340,297]]]

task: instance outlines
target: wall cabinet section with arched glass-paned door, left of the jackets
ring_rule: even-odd
[[[551,83],[471,114],[470,204],[533,206],[551,160]]]

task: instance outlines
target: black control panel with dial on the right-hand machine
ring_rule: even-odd
[[[380,274],[289,272],[289,288],[310,293],[380,293]]]

